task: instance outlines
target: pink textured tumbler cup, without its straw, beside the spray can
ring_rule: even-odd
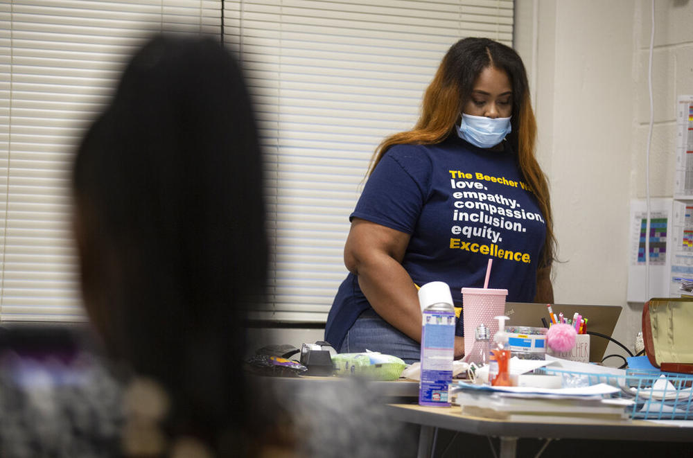
[[[464,361],[473,354],[474,333],[480,324],[489,328],[489,336],[498,332],[495,317],[505,315],[508,290],[462,288],[462,321],[464,322]]]

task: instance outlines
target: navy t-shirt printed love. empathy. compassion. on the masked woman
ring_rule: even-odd
[[[448,283],[455,307],[462,306],[463,287],[484,286],[489,258],[489,288],[507,289],[507,301],[531,302],[546,224],[505,144],[503,151],[485,150],[453,134],[435,145],[393,146],[349,219],[410,234],[403,267],[416,285]],[[339,349],[367,308],[358,278],[349,274],[332,304],[326,340]]]

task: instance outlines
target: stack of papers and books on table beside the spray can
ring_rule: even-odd
[[[604,398],[617,388],[599,384],[584,388],[534,389],[460,383],[453,402],[462,413],[509,421],[603,423],[630,419],[632,400]]]

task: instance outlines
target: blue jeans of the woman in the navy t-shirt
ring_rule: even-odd
[[[363,353],[366,349],[401,358],[407,364],[419,361],[421,345],[380,318],[369,308],[347,331],[340,353]]]

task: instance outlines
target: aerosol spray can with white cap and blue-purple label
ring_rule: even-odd
[[[455,358],[455,308],[450,287],[432,281],[419,289],[421,305],[421,382],[419,405],[448,407]]]

